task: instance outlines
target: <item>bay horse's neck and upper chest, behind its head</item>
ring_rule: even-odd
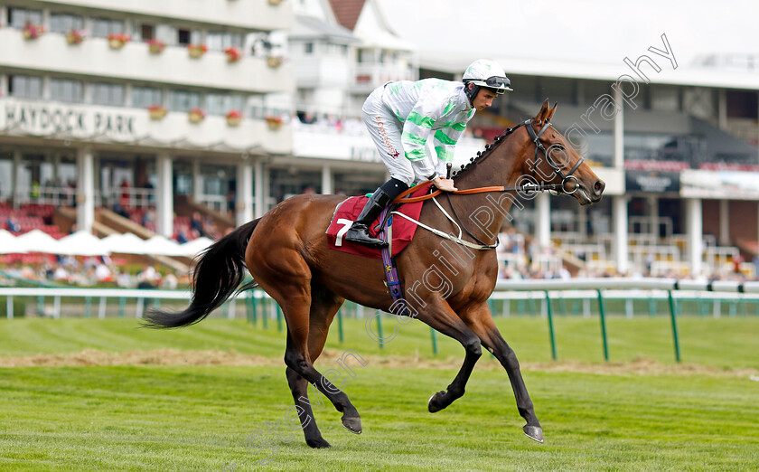
[[[490,151],[490,155],[464,172],[461,178],[457,178],[456,187],[462,190],[490,186],[513,187],[522,175],[526,151],[524,143],[515,137],[501,142]],[[454,195],[452,201],[464,225],[481,240],[492,242],[492,235],[501,231],[503,220],[511,210],[515,200],[513,195],[513,192]],[[487,218],[489,215],[492,220]]]

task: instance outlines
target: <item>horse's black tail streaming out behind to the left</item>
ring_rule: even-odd
[[[245,277],[245,249],[256,225],[254,220],[214,242],[198,256],[192,272],[192,300],[179,313],[152,309],[145,315],[146,327],[171,328],[198,323],[221,306],[232,294],[254,288],[256,281],[239,287]]]

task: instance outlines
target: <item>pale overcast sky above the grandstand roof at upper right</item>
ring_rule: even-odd
[[[756,0],[379,3],[395,32],[420,52],[615,63],[651,45],[661,47],[661,34],[666,33],[683,66],[707,53],[759,54]]]

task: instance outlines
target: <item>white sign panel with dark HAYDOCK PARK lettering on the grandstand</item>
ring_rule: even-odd
[[[18,99],[2,99],[0,104],[0,134],[20,132],[34,136],[80,138],[104,136],[115,140],[134,139],[137,136],[136,112]]]

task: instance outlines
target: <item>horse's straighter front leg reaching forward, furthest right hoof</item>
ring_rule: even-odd
[[[517,400],[517,409],[520,411],[520,416],[527,421],[522,430],[529,438],[543,442],[543,429],[540,427],[538,417],[535,416],[535,409],[522,379],[517,354],[514,354],[514,350],[506,343],[493,323],[490,307],[486,302],[477,303],[459,315],[509,374],[511,388]]]

